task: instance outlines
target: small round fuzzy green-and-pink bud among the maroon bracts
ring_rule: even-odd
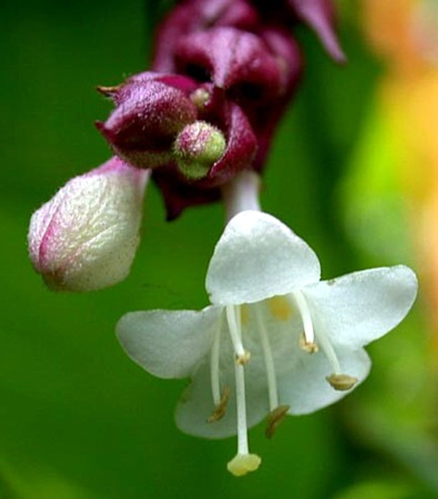
[[[195,121],[187,125],[175,141],[178,169],[189,180],[206,177],[225,148],[225,137],[218,128],[205,121]]]

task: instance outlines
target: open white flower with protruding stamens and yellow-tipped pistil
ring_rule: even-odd
[[[285,414],[306,414],[343,397],[368,375],[362,348],[408,313],[417,279],[406,266],[320,281],[316,254],[274,217],[236,215],[206,279],[213,305],[197,312],[140,311],[121,318],[128,355],[162,378],[190,376],[177,407],[189,434],[237,434],[236,476],[257,469],[247,427],[267,416],[270,437]]]

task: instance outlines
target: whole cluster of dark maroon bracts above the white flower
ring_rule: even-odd
[[[305,22],[343,60],[333,18],[330,0],[182,1],[158,28],[153,71],[100,87],[116,108],[97,127],[118,156],[153,169],[169,219],[217,200],[236,173],[265,166],[302,72],[291,28]],[[219,129],[226,142],[202,178],[183,175],[174,154],[178,134],[195,121]]]

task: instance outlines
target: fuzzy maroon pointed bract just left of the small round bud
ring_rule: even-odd
[[[138,168],[169,163],[175,137],[197,117],[195,104],[184,93],[196,88],[191,80],[167,77],[184,91],[158,80],[143,73],[112,91],[104,88],[117,107],[105,123],[96,123],[114,152]]]

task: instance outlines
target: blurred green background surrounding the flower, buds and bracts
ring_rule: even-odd
[[[32,270],[31,213],[110,155],[93,122],[111,106],[94,87],[147,67],[153,26],[169,3],[2,6],[0,498],[437,498],[436,351],[422,294],[409,318],[369,349],[374,368],[363,386],[334,407],[287,419],[272,442],[262,428],[251,430],[263,466],[235,479],[225,469],[234,439],[181,434],[173,411],[185,382],[146,374],[114,335],[126,311],[207,303],[204,277],[221,207],[191,209],[167,224],[151,185],[132,273],[111,289],[55,294]],[[364,41],[359,12],[358,1],[341,2],[350,60],[343,68],[312,33],[298,30],[306,73],[262,193],[265,210],[317,251],[324,277],[417,266],[403,193],[361,226],[365,235],[349,231],[357,201],[370,196],[367,176],[355,168],[373,157],[363,142],[373,140],[370,110],[385,71]],[[376,238],[377,252],[361,244]]]

